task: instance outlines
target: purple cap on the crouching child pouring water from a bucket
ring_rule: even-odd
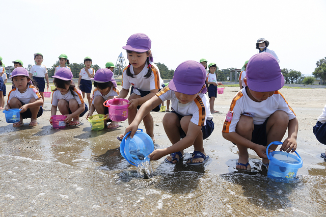
[[[194,61],[187,60],[181,63],[175,70],[169,88],[173,91],[193,95],[199,93],[203,85],[205,85],[207,72],[205,67]],[[206,87],[201,93],[206,93]]]

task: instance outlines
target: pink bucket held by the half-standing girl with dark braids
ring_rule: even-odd
[[[106,100],[103,105],[108,107],[108,115],[112,121],[124,121],[128,118],[127,99],[115,98]]]

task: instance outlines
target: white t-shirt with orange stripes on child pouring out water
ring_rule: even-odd
[[[171,99],[171,107],[173,107],[174,111],[182,116],[192,115],[191,122],[198,126],[205,126],[206,120],[213,119],[213,116],[210,114],[209,100],[206,94],[198,94],[194,101],[187,104],[180,103],[174,91],[170,90],[169,87],[163,88],[156,95],[162,101]]]

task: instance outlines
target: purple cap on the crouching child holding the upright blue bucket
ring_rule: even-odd
[[[252,56],[248,62],[247,86],[257,92],[280,90],[284,85],[284,77],[277,60],[267,52]]]

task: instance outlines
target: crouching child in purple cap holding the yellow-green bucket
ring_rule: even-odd
[[[108,119],[108,107],[103,105],[104,101],[113,99],[114,96],[119,95],[119,90],[116,88],[117,83],[113,77],[113,72],[110,69],[99,69],[96,71],[94,78],[94,91],[91,99],[90,111],[86,116],[86,119],[91,117],[96,110],[97,114],[105,115],[107,118],[104,120],[104,125],[106,126],[106,121],[111,121]],[[120,125],[116,121],[112,121],[107,125],[108,129],[118,128]]]

